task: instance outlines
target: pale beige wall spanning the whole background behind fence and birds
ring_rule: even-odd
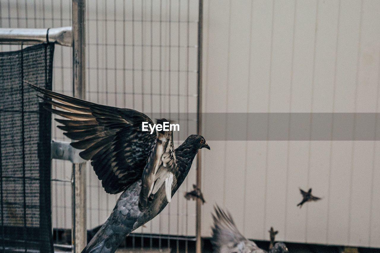
[[[196,112],[198,1],[87,6],[88,100],[146,113]],[[378,13],[377,0],[204,0],[203,112],[378,112]],[[0,0],[0,27],[70,25],[70,0]],[[65,94],[71,54],[56,46],[53,87]],[[185,134],[195,133],[196,122],[185,124]],[[211,131],[203,129],[206,140]],[[211,235],[218,204],[250,239],[268,240],[274,226],[281,241],[380,247],[378,142],[207,142],[202,236]],[[173,202],[138,232],[194,235],[195,205],[183,198],[195,183],[194,168]],[[71,228],[71,164],[55,161],[52,170],[60,180],[52,182],[53,227]],[[90,166],[87,176],[92,228],[117,196],[103,191]],[[323,199],[299,209],[298,187],[312,187]]]

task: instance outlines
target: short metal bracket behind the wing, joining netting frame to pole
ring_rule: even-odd
[[[71,161],[72,163],[86,162],[85,159],[79,156],[82,150],[73,148],[70,142],[51,141],[51,158]]]

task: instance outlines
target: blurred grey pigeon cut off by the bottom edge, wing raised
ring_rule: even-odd
[[[268,253],[259,248],[254,242],[246,239],[237,230],[230,212],[214,207],[212,214],[214,226],[212,227],[211,243],[214,253]],[[282,242],[277,242],[269,253],[288,253],[288,248]]]

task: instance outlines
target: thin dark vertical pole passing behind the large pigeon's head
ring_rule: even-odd
[[[202,131],[202,41],[203,41],[203,0],[199,0],[198,17],[198,101],[197,101],[197,128],[198,134]],[[200,150],[199,150],[200,151]],[[201,153],[198,152],[196,158],[196,185],[201,189]],[[201,238],[201,200],[196,199],[195,212],[195,252],[202,252]]]

